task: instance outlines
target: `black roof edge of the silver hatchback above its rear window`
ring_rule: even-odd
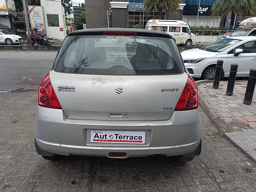
[[[134,28],[94,28],[74,31],[68,36],[83,36],[83,35],[102,35],[103,32],[135,32],[137,36],[163,37],[172,38],[169,34],[161,31],[154,31],[148,29],[134,29]]]

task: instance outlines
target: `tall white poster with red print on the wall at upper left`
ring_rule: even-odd
[[[45,22],[42,6],[28,6],[28,13],[32,29],[37,29],[38,34],[45,34]]]

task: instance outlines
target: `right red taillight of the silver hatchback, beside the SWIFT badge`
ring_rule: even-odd
[[[198,91],[196,82],[188,75],[188,80],[175,107],[176,111],[192,110],[198,108]]]

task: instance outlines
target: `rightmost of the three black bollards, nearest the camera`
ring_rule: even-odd
[[[251,105],[256,84],[256,68],[250,69],[247,87],[244,95],[244,104]]]

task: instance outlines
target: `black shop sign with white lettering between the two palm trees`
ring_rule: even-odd
[[[198,9],[198,5],[186,5],[183,9],[183,15],[203,15],[210,16],[211,13],[211,5],[200,5]]]

